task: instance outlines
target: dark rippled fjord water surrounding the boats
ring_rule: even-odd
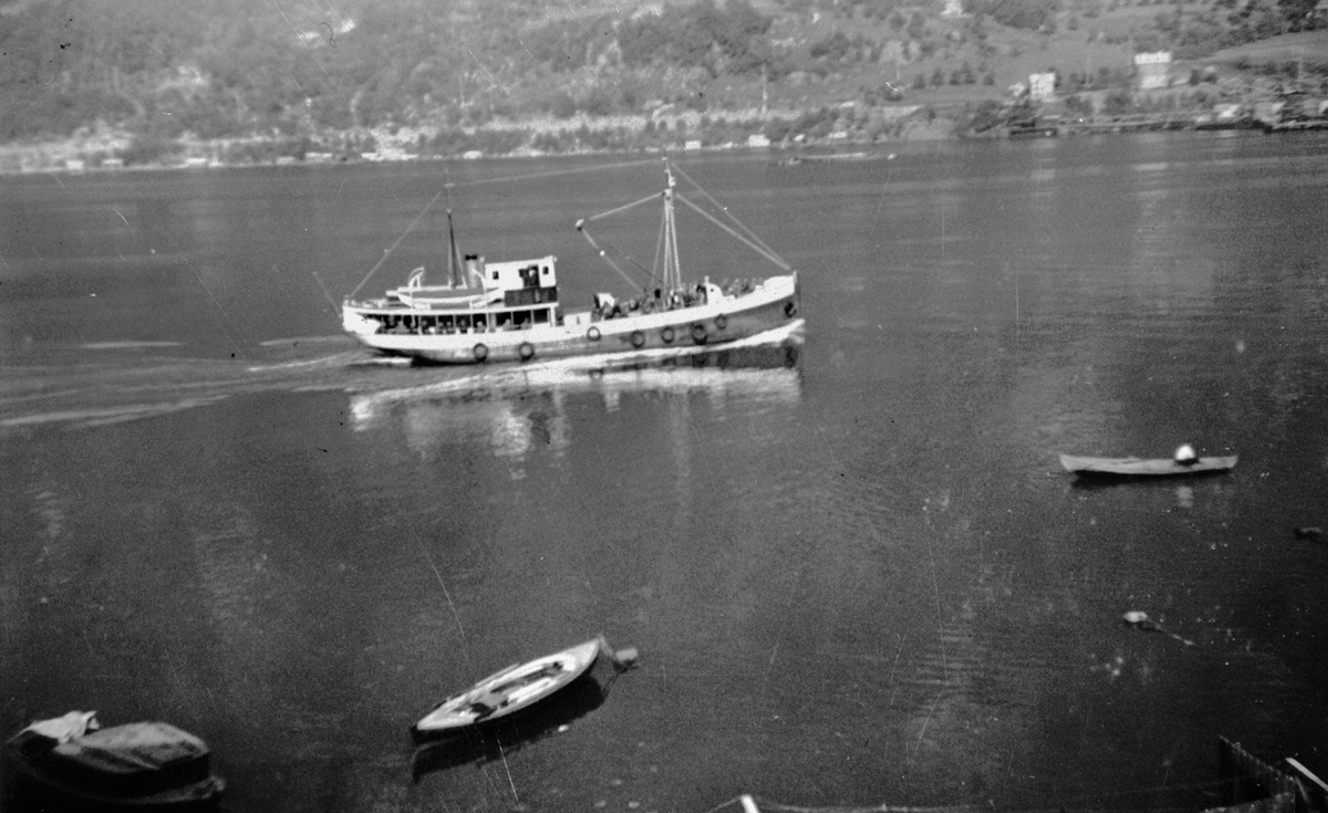
[[[803,345],[588,377],[339,337],[446,181],[463,251],[622,291],[571,226],[657,167],[487,182],[587,166],[4,179],[5,731],[169,720],[235,810],[1198,809],[1219,735],[1328,773],[1328,546],[1291,534],[1328,525],[1328,139],[704,158]],[[688,214],[684,271],[768,272]],[[596,234],[648,266],[656,218]],[[1182,441],[1240,464],[1058,470]],[[641,652],[600,703],[413,765],[446,693],[596,632]]]

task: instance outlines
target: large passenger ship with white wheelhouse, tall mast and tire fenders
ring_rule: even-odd
[[[471,254],[462,262],[449,214],[449,282],[425,284],[424,268],[417,268],[405,286],[386,291],[382,298],[356,300],[352,292],[343,303],[341,324],[356,340],[382,353],[474,364],[722,345],[801,323],[797,272],[722,207],[729,223],[683,197],[675,189],[675,170],[713,203],[681,169],[665,161],[663,193],[576,223],[591,247],[631,280],[587,226],[644,203],[663,202],[656,267],[632,298],[619,300],[611,294],[598,294],[594,307],[564,311],[558,290],[558,258],[486,262]],[[737,282],[712,282],[703,275],[700,282],[684,284],[675,221],[679,201],[786,274]]]

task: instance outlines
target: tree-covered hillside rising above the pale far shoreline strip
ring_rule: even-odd
[[[993,98],[1031,69],[1093,89],[1135,50],[1324,25],[1315,1],[0,0],[0,142]]]

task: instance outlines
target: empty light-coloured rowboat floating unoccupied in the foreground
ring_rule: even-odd
[[[436,705],[410,727],[410,735],[416,741],[424,741],[509,719],[584,675],[595,666],[600,652],[612,651],[603,638],[596,638],[494,672]]]

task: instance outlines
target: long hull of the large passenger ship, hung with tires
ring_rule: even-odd
[[[588,311],[567,314],[560,324],[519,329],[470,329],[452,333],[382,332],[373,306],[347,303],[343,323],[376,351],[437,364],[531,361],[643,349],[722,345],[798,319],[797,274],[764,280],[753,291],[684,308],[612,319]],[[412,316],[428,311],[404,311]]]

